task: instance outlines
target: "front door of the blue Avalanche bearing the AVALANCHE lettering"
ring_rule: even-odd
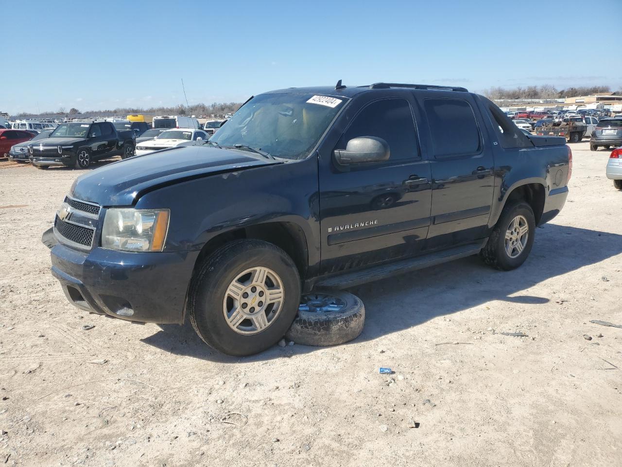
[[[337,144],[320,148],[322,273],[407,257],[423,246],[430,224],[430,164],[419,148],[414,101],[370,93],[357,97],[335,128]],[[337,167],[334,149],[375,136],[389,145],[381,163]]]

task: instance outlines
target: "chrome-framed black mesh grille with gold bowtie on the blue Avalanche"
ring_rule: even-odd
[[[58,241],[81,250],[93,248],[100,210],[100,205],[66,196],[54,219]]]

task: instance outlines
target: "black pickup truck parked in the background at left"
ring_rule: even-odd
[[[61,123],[48,138],[28,146],[30,162],[39,169],[69,166],[86,169],[100,159],[134,155],[136,136],[132,130],[119,131],[109,121]]]

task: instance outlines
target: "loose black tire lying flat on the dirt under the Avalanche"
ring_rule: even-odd
[[[338,311],[300,309],[294,323],[285,334],[287,339],[304,346],[336,346],[356,339],[365,324],[365,307],[356,295],[344,291],[317,290],[305,294],[302,302],[334,298],[343,303]]]

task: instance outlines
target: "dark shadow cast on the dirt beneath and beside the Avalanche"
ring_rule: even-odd
[[[493,270],[479,258],[470,257],[353,288],[350,291],[360,296],[365,304],[365,328],[357,339],[343,345],[373,341],[438,316],[485,306],[491,301],[546,304],[549,298],[531,295],[529,288],[620,253],[622,235],[546,224],[537,229],[527,261],[514,271]],[[194,333],[189,320],[183,326],[162,326],[161,331],[142,341],[174,354],[221,363],[267,361],[322,349],[274,346],[258,355],[230,357],[206,346]]]

